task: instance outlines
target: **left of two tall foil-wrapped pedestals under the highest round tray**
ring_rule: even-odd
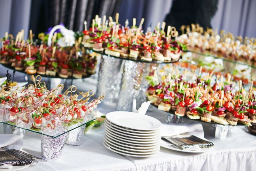
[[[96,96],[104,93],[104,103],[115,103],[120,89],[122,60],[102,55],[97,83]]]

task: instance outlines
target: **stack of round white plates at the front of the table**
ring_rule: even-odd
[[[161,122],[133,112],[116,111],[106,115],[104,146],[134,157],[149,157],[160,150]]]

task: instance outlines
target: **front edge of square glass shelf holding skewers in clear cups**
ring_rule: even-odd
[[[41,135],[46,135],[46,136],[49,136],[49,137],[56,138],[56,137],[59,137],[60,135],[68,133],[68,132],[70,132],[70,131],[72,131],[76,128],[79,128],[80,126],[83,126],[83,125],[87,124],[88,122],[91,122],[92,120],[95,120],[95,119],[96,119],[96,117],[94,115],[93,116],[88,116],[83,121],[80,121],[80,122],[77,122],[77,123],[75,123],[75,122],[73,122],[72,124],[61,123],[58,126],[58,128],[56,128],[54,130],[40,129],[38,131],[32,129],[31,127],[17,126],[17,125],[12,124],[11,122],[0,121],[0,123],[6,124],[6,125],[9,125],[9,126],[13,126],[13,127],[16,127],[16,128],[21,128],[23,130],[27,130],[27,131],[30,131],[30,132],[39,133]]]

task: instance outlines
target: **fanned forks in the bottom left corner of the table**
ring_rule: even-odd
[[[0,165],[21,166],[38,163],[38,161],[46,162],[44,158],[39,158],[20,150],[0,148]]]

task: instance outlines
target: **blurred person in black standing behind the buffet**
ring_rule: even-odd
[[[166,15],[166,25],[177,30],[182,25],[199,24],[204,29],[212,28],[211,19],[218,9],[218,0],[174,0]]]

